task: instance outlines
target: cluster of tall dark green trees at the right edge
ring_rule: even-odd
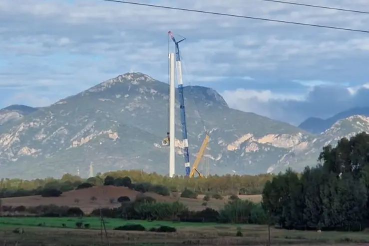
[[[316,167],[268,180],[262,205],[287,229],[363,230],[369,221],[369,135],[325,146]]]

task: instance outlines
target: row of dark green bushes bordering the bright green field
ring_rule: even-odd
[[[119,201],[119,198],[124,198]],[[204,206],[203,210],[192,211],[180,201],[157,202],[155,198],[138,194],[134,200],[119,197],[114,202],[120,206],[114,208],[96,208],[89,214],[79,207],[38,205],[38,206],[2,206],[2,216],[46,216],[46,217],[82,217],[104,216],[110,218],[183,221],[183,222],[218,222],[218,223],[266,223],[266,214],[261,204],[242,200],[237,196],[230,198],[225,206],[218,210]],[[24,216],[24,215],[23,215]]]

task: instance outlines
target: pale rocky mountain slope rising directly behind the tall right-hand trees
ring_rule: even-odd
[[[330,128],[310,141],[301,142],[286,153],[269,171],[283,171],[287,166],[301,170],[306,165],[317,164],[323,146],[335,146],[342,137],[350,138],[359,132],[369,132],[369,117],[353,115],[335,122]]]

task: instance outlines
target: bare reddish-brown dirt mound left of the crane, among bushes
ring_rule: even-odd
[[[78,206],[84,212],[88,213],[98,207],[119,206],[120,203],[116,202],[119,196],[128,196],[131,200],[135,200],[138,194],[141,194],[141,192],[131,190],[127,187],[97,186],[63,192],[59,197],[42,197],[40,195],[32,195],[3,198],[2,203],[3,205],[7,206],[37,206],[49,204],[55,204],[58,206]],[[163,196],[151,192],[146,192],[144,194],[155,198],[157,201],[176,200],[170,196]],[[112,202],[113,199],[114,201]]]

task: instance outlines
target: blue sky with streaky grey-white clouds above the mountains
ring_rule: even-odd
[[[262,0],[132,0],[369,30],[369,14]],[[295,0],[369,11],[368,0]],[[0,108],[45,106],[129,71],[167,81],[167,31],[185,85],[299,124],[369,102],[369,33],[102,0],[0,0]],[[171,50],[173,44],[170,43]]]

